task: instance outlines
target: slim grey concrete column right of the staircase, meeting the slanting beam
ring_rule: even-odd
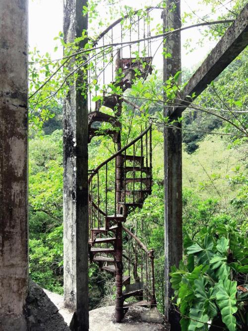
[[[164,31],[166,28],[181,27],[180,0],[167,0],[164,12]],[[164,82],[181,71],[181,33],[175,33],[165,42],[171,58],[164,58]],[[180,82],[180,81],[179,81]],[[166,84],[166,83],[165,83]],[[168,116],[165,107],[164,116]],[[170,117],[171,120],[177,118]],[[165,305],[166,315],[174,331],[181,330],[180,316],[171,305],[173,289],[169,281],[172,265],[179,265],[183,257],[182,238],[182,130],[181,123],[177,128],[164,128],[164,176],[165,176]]]

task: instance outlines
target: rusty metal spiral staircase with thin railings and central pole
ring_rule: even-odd
[[[144,79],[152,69],[151,58],[116,61],[113,84],[122,92],[131,87],[135,68]],[[142,66],[143,62],[146,65]],[[120,69],[121,68],[121,69]],[[156,306],[154,251],[148,250],[131,229],[124,227],[126,217],[142,208],[152,187],[152,126],[149,124],[134,140],[121,146],[122,113],[120,94],[104,95],[89,113],[89,142],[94,136],[110,135],[117,153],[89,171],[89,260],[116,280],[116,321],[121,322],[130,305]],[[110,108],[113,116],[101,112]],[[99,130],[97,124],[109,123],[112,129]],[[124,243],[125,239],[125,243]],[[125,290],[123,289],[125,287]],[[134,300],[134,301],[133,301]]]

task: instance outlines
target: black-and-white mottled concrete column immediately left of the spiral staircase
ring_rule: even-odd
[[[63,31],[66,43],[87,30],[82,16],[86,0],[65,0]],[[85,41],[81,42],[83,46]],[[74,68],[73,60],[69,69]],[[83,77],[69,85],[64,103],[64,303],[75,310],[75,330],[88,330],[88,109],[81,95]]]

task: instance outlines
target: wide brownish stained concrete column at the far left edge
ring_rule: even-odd
[[[27,0],[0,1],[0,330],[27,330]]]

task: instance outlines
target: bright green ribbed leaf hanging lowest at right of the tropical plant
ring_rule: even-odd
[[[237,281],[226,279],[216,284],[218,289],[216,293],[217,305],[220,308],[222,321],[229,331],[236,330],[235,314],[238,310],[236,306]]]

